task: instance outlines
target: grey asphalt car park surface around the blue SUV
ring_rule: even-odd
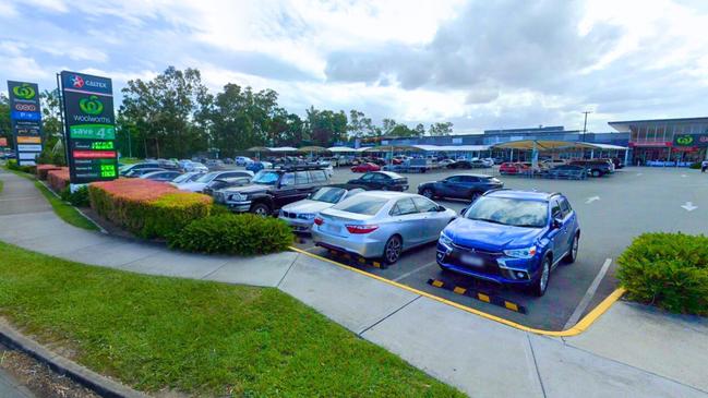
[[[416,192],[421,182],[460,172],[467,170],[444,170],[406,177],[410,182],[410,192]],[[469,172],[496,173],[495,169]],[[333,182],[346,182],[356,176],[346,169],[338,169]],[[356,261],[350,264],[386,279],[521,325],[544,330],[563,330],[573,326],[616,288],[616,258],[634,237],[648,231],[705,233],[708,226],[708,212],[705,212],[708,209],[708,176],[701,176],[696,170],[629,168],[610,177],[587,181],[497,177],[504,181],[506,188],[562,192],[571,200],[580,219],[578,260],[575,264],[559,264],[542,298],[443,273],[435,264],[434,243],[406,252],[396,264],[384,269],[361,265]],[[464,201],[436,202],[458,213],[468,205]],[[686,210],[682,207],[685,202],[692,202],[697,209]],[[322,248],[315,248],[307,236],[300,237],[297,246],[313,254],[347,262],[341,256],[334,256]],[[609,266],[605,266],[608,262]],[[495,294],[524,306],[526,313],[509,311],[504,306],[433,287],[428,282],[430,279]],[[593,284],[596,279],[597,282]]]

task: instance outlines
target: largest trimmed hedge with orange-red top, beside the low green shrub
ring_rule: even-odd
[[[141,238],[169,238],[209,215],[212,197],[161,182],[119,179],[88,185],[91,207]]]

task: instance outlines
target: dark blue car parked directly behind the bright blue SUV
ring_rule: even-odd
[[[499,179],[484,174],[455,174],[444,180],[423,182],[418,193],[428,197],[453,197],[475,201],[484,192],[504,188]]]

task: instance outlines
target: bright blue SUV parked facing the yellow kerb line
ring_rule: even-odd
[[[543,296],[551,270],[575,262],[580,226],[560,193],[490,191],[463,210],[437,241],[444,270],[528,288]]]

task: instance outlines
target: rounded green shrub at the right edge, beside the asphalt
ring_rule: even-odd
[[[708,315],[708,238],[645,233],[620,256],[627,298],[667,311]]]

